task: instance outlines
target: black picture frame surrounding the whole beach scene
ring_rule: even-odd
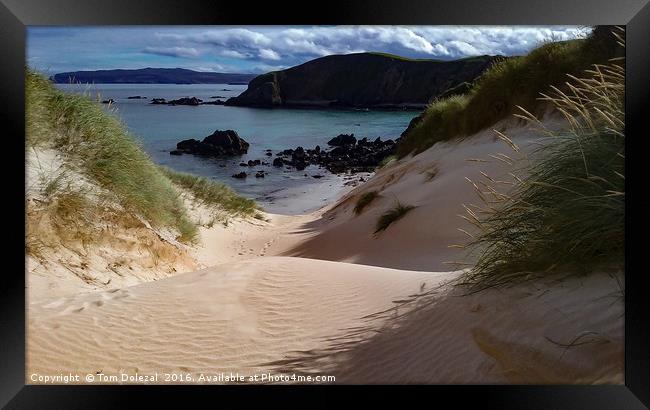
[[[0,122],[3,143],[10,151],[0,160],[6,183],[13,182],[3,208],[8,230],[0,285],[0,405],[8,408],[114,408],[129,396],[167,400],[178,393],[220,403],[230,398],[286,396],[290,407],[316,400],[341,404],[331,392],[351,386],[32,386],[25,384],[25,269],[21,235],[25,233],[24,74],[25,28],[30,25],[266,25],[266,24],[387,24],[387,25],[625,25],[626,32],[626,298],[625,385],[622,386],[364,386],[364,400],[399,397],[402,407],[421,405],[422,396],[439,403],[488,408],[636,409],[650,406],[650,308],[646,295],[644,235],[650,201],[644,144],[650,96],[650,5],[648,0],[463,0],[463,1],[329,1],[233,2],[174,0],[0,0]],[[16,145],[13,147],[13,145]],[[632,148],[632,149],[630,149]],[[22,151],[24,153],[24,151]],[[8,154],[8,155],[7,155]],[[644,252],[645,251],[645,252]],[[251,389],[254,390],[251,393]],[[415,394],[419,393],[419,394]],[[419,397],[418,397],[419,396]],[[451,401],[448,401],[451,399]],[[417,401],[416,401],[417,400]],[[186,403],[188,405],[189,402]],[[273,408],[273,407],[271,407]]]

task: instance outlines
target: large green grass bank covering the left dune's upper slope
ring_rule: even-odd
[[[25,76],[28,147],[57,149],[127,211],[177,229],[181,240],[194,238],[196,226],[179,193],[116,117],[85,96],[57,90],[39,74],[27,70]]]

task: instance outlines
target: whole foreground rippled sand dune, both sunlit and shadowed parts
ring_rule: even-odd
[[[615,278],[459,297],[441,287],[456,276],[271,257],[33,304],[28,377],[173,372],[198,381],[201,373],[271,372],[340,383],[622,383]],[[433,293],[411,315],[396,317],[405,306],[363,318],[421,290]]]

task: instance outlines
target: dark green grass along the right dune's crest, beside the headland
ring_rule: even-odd
[[[581,75],[592,64],[623,55],[609,27],[596,27],[586,39],[552,42],[522,57],[495,63],[467,94],[434,101],[419,123],[397,146],[402,158],[436,142],[474,134],[518,111],[539,113],[547,105],[538,100],[550,85],[565,90],[567,74]]]

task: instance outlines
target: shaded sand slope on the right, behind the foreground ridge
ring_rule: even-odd
[[[512,181],[508,174],[513,167],[490,155],[505,153],[513,160],[524,162],[525,153],[539,141],[539,134],[532,128],[514,124],[514,121],[502,121],[493,128],[508,130],[508,136],[516,141],[521,153],[511,151],[498,140],[492,128],[463,141],[438,143],[420,155],[379,170],[322,218],[303,225],[303,231],[316,231],[317,235],[305,238],[282,254],[397,269],[449,270],[445,262],[464,260],[458,248],[449,247],[467,239],[458,228],[471,230],[471,225],[459,217],[465,213],[462,205],[478,201],[466,178],[479,181],[484,172],[495,180]],[[560,124],[555,119],[546,122],[551,129]],[[435,175],[430,178],[429,172]],[[379,198],[355,216],[357,199],[369,191],[378,191]],[[397,201],[416,208],[395,226],[374,234],[379,216]],[[341,240],[345,246],[341,246]]]

